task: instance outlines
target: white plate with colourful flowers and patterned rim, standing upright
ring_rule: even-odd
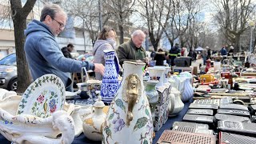
[[[36,79],[22,94],[17,114],[32,114],[47,118],[57,110],[62,110],[65,102],[65,86],[54,74],[46,74]]]

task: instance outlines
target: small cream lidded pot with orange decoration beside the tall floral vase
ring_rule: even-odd
[[[106,113],[103,111],[104,107],[102,98],[99,96],[98,101],[94,103],[94,110],[85,118],[82,125],[83,134],[86,135],[86,138],[93,141],[102,140],[102,126],[106,118]]]

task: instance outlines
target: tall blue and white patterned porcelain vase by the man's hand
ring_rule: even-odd
[[[102,101],[106,103],[112,102],[114,95],[118,91],[118,60],[114,50],[104,50],[105,71],[102,77],[101,96]]]

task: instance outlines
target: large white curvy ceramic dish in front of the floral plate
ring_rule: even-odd
[[[73,142],[74,121],[66,111],[58,110],[47,118],[30,114],[16,115],[21,100],[21,96],[0,100],[0,132],[6,139],[13,143]],[[73,112],[70,108],[67,111]]]

